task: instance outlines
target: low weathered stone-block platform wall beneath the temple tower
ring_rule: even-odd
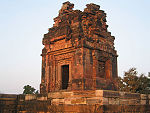
[[[0,98],[0,113],[149,113],[150,95],[108,90],[59,91]],[[1,96],[1,97],[2,97]],[[8,96],[7,96],[8,97]],[[10,96],[9,96],[10,97]],[[13,97],[14,98],[14,97]],[[2,101],[5,100],[5,103]]]

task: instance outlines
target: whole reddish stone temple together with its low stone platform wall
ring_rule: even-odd
[[[150,94],[118,91],[106,14],[63,3],[44,35],[40,94],[0,94],[0,113],[150,113]]]

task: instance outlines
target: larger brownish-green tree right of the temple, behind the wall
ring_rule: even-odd
[[[136,68],[129,69],[123,78],[118,78],[118,81],[120,91],[150,94],[150,78],[144,74],[138,76]]]

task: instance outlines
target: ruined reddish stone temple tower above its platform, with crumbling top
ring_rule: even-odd
[[[44,34],[41,93],[60,90],[117,90],[117,52],[106,13],[96,4],[84,11],[65,2]]]

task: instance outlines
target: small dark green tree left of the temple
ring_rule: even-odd
[[[24,86],[23,89],[23,94],[38,94],[38,90],[36,90],[34,87],[31,87],[30,85]]]

